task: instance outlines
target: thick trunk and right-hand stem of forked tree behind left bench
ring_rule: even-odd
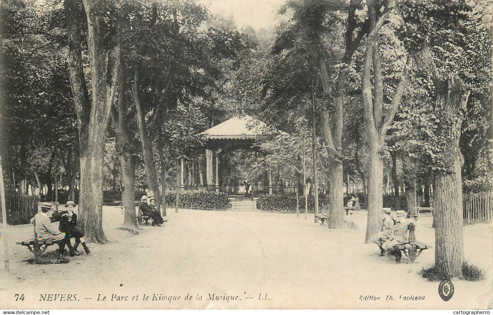
[[[86,242],[106,243],[103,232],[103,161],[109,114],[117,86],[120,47],[116,45],[111,51],[107,48],[101,23],[107,12],[107,3],[83,0],[83,4],[88,25],[92,104],[87,137],[80,137],[79,129],[79,138],[87,141],[80,161],[80,228],[85,233]],[[80,122],[83,117],[78,110],[77,116]],[[82,148],[80,145],[81,151]]]

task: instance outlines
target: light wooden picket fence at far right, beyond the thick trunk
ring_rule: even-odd
[[[464,194],[462,204],[464,224],[492,220],[493,191]]]

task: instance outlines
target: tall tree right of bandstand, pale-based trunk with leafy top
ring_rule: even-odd
[[[294,10],[291,19],[294,23],[278,37],[276,43],[277,51],[292,48],[298,58],[303,57],[311,63],[312,70],[317,71],[322,84],[324,97],[320,109],[320,129],[328,156],[329,228],[343,227],[345,223],[343,191],[339,189],[344,185],[341,152],[344,91],[352,56],[368,30],[367,22],[361,21],[355,14],[361,5],[360,0],[351,0],[349,3],[289,1],[286,8]],[[344,36],[340,36],[341,33]]]

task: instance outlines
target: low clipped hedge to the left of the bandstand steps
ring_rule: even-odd
[[[166,193],[166,207],[175,208],[176,192]],[[228,194],[214,191],[181,191],[179,208],[225,210],[230,208]]]

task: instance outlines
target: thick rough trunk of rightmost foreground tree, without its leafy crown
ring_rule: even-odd
[[[462,154],[459,138],[470,91],[458,74],[444,78],[437,70],[428,46],[414,54],[418,69],[433,79],[436,97],[434,114],[441,121],[436,136],[443,139],[442,169],[436,172],[433,185],[435,224],[435,266],[448,278],[462,279],[464,250],[462,240]]]

